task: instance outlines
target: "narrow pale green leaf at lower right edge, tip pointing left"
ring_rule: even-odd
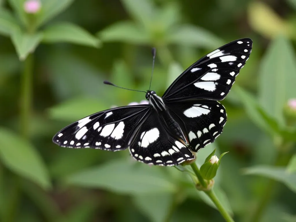
[[[254,166],[244,169],[246,175],[260,175],[285,184],[296,193],[296,173],[289,173],[283,167]]]

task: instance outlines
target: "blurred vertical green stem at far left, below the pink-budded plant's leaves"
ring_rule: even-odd
[[[28,139],[30,112],[32,103],[32,85],[33,85],[33,54],[29,54],[24,61],[24,68],[21,80],[21,133]]]

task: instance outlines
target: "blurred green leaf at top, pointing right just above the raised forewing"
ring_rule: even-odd
[[[182,25],[167,34],[168,43],[217,48],[223,41],[209,31],[193,25]]]

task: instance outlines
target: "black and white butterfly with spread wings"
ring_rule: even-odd
[[[62,147],[111,151],[129,149],[138,161],[178,165],[195,158],[226,123],[225,98],[250,56],[252,40],[232,41],[186,69],[162,97],[147,90],[149,104],[97,112],[63,128],[54,137]]]

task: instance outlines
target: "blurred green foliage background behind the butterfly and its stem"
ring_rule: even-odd
[[[34,1],[34,0],[33,0]],[[40,5],[41,3],[41,5]],[[223,221],[186,173],[52,143],[94,112],[161,95],[197,59],[252,38],[222,101],[215,192],[235,221],[296,221],[295,0],[0,0],[0,221]],[[293,100],[294,99],[294,100]]]

